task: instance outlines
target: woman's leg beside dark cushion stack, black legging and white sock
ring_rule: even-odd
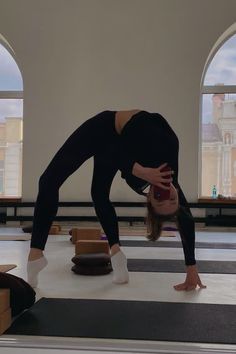
[[[109,199],[111,184],[117,170],[116,158],[112,156],[111,151],[101,156],[96,155],[94,157],[91,194],[96,214],[108,238],[111,250],[113,282],[122,284],[129,281],[127,259],[120,250],[117,216]]]

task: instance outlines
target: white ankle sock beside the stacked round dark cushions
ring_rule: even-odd
[[[111,257],[111,265],[113,268],[113,283],[128,283],[129,272],[127,268],[127,259],[122,251],[117,252]]]

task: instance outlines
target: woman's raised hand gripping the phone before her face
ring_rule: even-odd
[[[170,187],[167,187],[164,183],[171,183],[173,181],[172,174],[174,172],[171,170],[161,172],[165,166],[167,166],[167,163],[164,163],[157,168],[143,167],[136,162],[134,164],[132,173],[134,176],[142,178],[152,185],[161,187],[163,189],[169,189]]]

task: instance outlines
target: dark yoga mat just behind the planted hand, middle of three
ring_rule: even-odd
[[[197,261],[197,267],[199,273],[236,274],[236,262]],[[128,269],[130,272],[186,272],[184,261],[178,259],[128,259]]]

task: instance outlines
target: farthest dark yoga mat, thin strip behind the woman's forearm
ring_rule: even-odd
[[[182,247],[181,241],[132,241],[132,240],[122,240],[121,246],[123,247],[171,247],[180,248]],[[226,242],[196,242],[196,248],[212,248],[212,249],[236,249],[236,243],[226,243]]]

